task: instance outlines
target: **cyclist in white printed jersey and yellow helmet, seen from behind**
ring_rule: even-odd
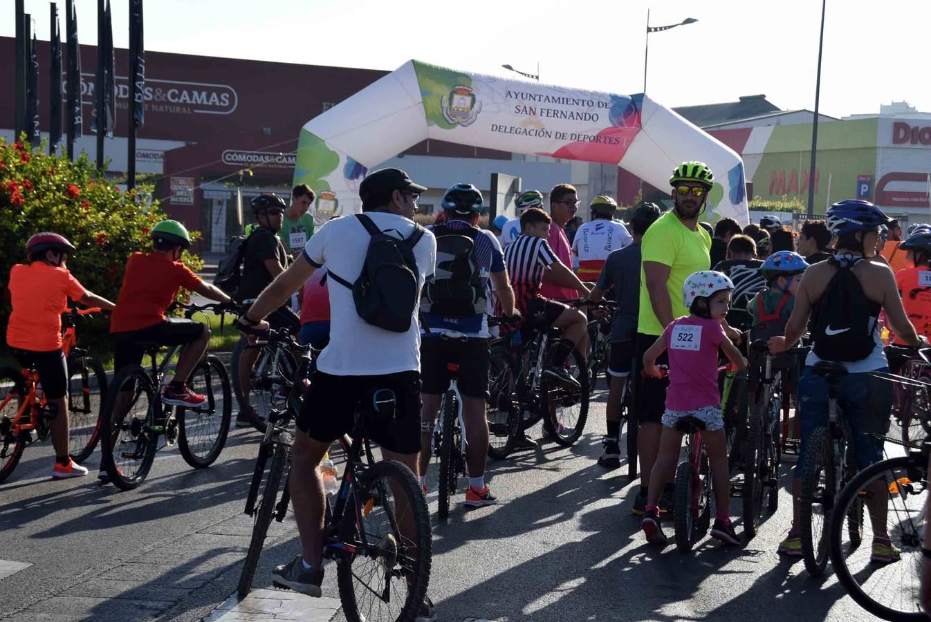
[[[573,264],[579,281],[595,283],[612,251],[633,242],[620,221],[614,220],[617,203],[610,196],[591,200],[591,221],[579,227],[573,239]]]

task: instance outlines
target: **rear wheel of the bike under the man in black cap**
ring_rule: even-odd
[[[394,460],[365,470],[346,505],[340,539],[356,550],[336,565],[346,619],[416,619],[430,578],[431,535],[426,500],[411,470]]]

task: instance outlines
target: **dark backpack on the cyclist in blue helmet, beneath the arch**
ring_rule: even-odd
[[[487,311],[485,285],[475,258],[479,229],[438,225],[433,234],[437,236],[437,267],[421,293],[421,311],[444,317],[469,317]]]

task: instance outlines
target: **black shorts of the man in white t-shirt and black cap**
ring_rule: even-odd
[[[317,371],[297,417],[298,430],[320,443],[350,434],[359,404],[371,404],[375,392],[394,393],[392,412],[363,410],[366,438],[396,454],[420,451],[420,374],[415,371],[381,376],[331,376]],[[379,400],[384,395],[378,396]]]

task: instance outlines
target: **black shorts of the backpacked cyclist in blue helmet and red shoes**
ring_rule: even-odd
[[[488,339],[469,338],[466,341],[423,337],[420,342],[422,391],[439,395],[450,388],[447,364],[458,363],[459,392],[468,397],[488,400],[488,362],[491,358]]]

